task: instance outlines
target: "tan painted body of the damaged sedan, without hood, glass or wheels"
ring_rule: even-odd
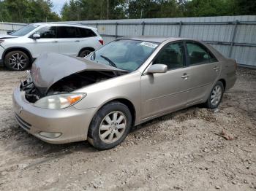
[[[137,40],[143,38],[145,37],[131,37]],[[224,58],[208,44],[205,46],[219,62],[173,69],[162,74],[148,74],[147,69],[157,52],[165,44],[180,40],[186,39],[165,39],[136,71],[75,90],[87,95],[66,109],[36,108],[16,88],[13,93],[15,114],[31,125],[30,130],[24,128],[29,133],[43,141],[61,144],[88,139],[87,132],[92,117],[99,108],[113,100],[129,101],[134,108],[135,125],[138,125],[154,117],[205,102],[218,80],[225,82],[226,90],[233,87],[236,82],[236,62]],[[184,74],[188,75],[187,79],[183,78]],[[23,126],[23,121],[18,120],[18,123]],[[39,136],[42,130],[61,132],[62,136],[46,139]]]

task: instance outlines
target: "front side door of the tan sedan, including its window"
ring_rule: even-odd
[[[167,72],[142,75],[142,120],[186,106],[189,71],[185,60],[184,42],[167,44],[152,63],[167,65]]]

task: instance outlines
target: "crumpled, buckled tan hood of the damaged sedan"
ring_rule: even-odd
[[[81,71],[123,71],[85,58],[70,57],[57,53],[44,53],[34,61],[31,78],[40,90],[47,91],[60,79]]]

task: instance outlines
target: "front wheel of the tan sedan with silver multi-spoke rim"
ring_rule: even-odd
[[[89,127],[89,143],[99,150],[116,147],[129,133],[132,114],[126,105],[111,102],[94,115]]]

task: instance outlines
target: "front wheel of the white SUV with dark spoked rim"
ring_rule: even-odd
[[[29,56],[20,50],[8,52],[4,57],[4,65],[10,70],[24,70],[29,66]]]

